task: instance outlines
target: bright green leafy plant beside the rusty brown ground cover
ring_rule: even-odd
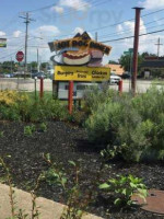
[[[117,176],[117,178],[108,180],[106,183],[99,185],[101,189],[105,189],[114,194],[117,206],[131,206],[134,204],[131,200],[133,195],[140,196],[145,200],[148,196],[147,186],[142,183],[142,178],[128,176]]]

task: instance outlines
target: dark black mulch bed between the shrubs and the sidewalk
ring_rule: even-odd
[[[87,141],[84,129],[71,126],[62,122],[48,123],[46,132],[35,131],[33,136],[24,136],[23,123],[0,122],[0,131],[3,137],[0,138],[0,155],[11,155],[5,159],[12,175],[13,183],[17,188],[30,191],[47,164],[43,159],[43,153],[50,153],[57,162],[62,162],[66,171],[73,178],[73,173],[68,161],[81,160],[80,183],[83,189],[90,187],[91,182],[96,177],[101,165],[99,151]],[[36,125],[37,126],[37,125]],[[115,177],[116,174],[132,174],[143,177],[143,182],[149,188],[164,189],[164,165],[162,163],[151,164],[127,164],[122,161],[110,163],[108,171],[102,172],[102,178]],[[0,169],[0,174],[2,170]],[[57,186],[42,183],[38,195],[56,200],[61,199],[61,189]],[[164,218],[141,209],[118,210],[115,209],[107,196],[99,193],[95,203],[89,208],[89,211],[103,218],[121,219],[144,219],[144,218]],[[110,217],[106,216],[109,209]]]

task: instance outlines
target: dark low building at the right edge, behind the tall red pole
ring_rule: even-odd
[[[144,78],[164,78],[164,57],[144,57],[141,72]]]

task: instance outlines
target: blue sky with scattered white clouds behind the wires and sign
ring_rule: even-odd
[[[147,34],[164,28],[164,0],[1,0],[0,38],[8,38],[8,47],[0,48],[0,62],[15,60],[17,50],[24,51],[25,23],[22,19],[30,12],[27,61],[49,61],[48,42],[68,38],[87,31],[98,42],[112,46],[104,58],[118,60],[133,46],[133,39],[114,41],[133,35],[133,7],[143,7],[140,33]],[[161,10],[161,11],[160,11]],[[21,18],[20,18],[21,16]],[[157,38],[164,44],[164,32],[140,37],[139,51],[157,53]],[[164,56],[164,46],[161,46]]]

